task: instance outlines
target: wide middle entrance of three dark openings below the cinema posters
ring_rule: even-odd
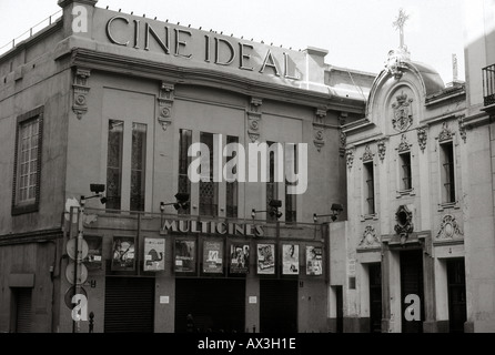
[[[244,323],[245,280],[175,280],[176,333],[243,333]]]

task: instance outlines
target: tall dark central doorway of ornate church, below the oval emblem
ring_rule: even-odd
[[[407,321],[405,311],[411,303],[405,303],[407,295],[420,297],[420,321]],[[423,292],[423,251],[401,252],[401,303],[402,303],[402,332],[423,333],[424,292]]]

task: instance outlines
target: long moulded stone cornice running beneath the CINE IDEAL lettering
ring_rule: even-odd
[[[59,59],[62,57],[64,55],[60,55]],[[291,102],[306,106],[317,108],[321,105],[330,105],[332,109],[339,108],[341,111],[364,112],[364,104],[356,108],[355,100],[342,100],[342,98],[333,98],[329,93],[256,81],[214,70],[176,67],[169,63],[129,58],[108,52],[98,52],[82,48],[74,48],[71,50],[70,65],[84,67],[105,72],[124,73],[125,75],[148,78],[172,83],[212,87],[239,92],[250,97],[262,97],[264,99]]]

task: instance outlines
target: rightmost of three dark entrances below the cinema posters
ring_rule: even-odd
[[[260,280],[261,333],[297,333],[297,280]]]

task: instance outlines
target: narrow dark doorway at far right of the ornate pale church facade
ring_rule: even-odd
[[[464,258],[447,260],[447,280],[449,332],[464,333],[464,323],[467,320]]]

